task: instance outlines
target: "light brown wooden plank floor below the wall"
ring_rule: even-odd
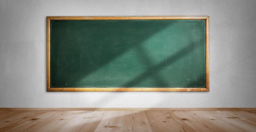
[[[0,110],[0,132],[256,132],[256,110]]]

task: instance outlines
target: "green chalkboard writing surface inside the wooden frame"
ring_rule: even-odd
[[[205,19],[50,20],[51,88],[205,88]]]

